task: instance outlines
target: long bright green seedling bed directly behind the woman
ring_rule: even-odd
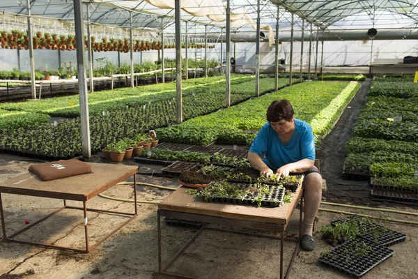
[[[259,130],[266,122],[265,112],[273,100],[286,98],[295,109],[295,117],[311,124],[316,140],[326,135],[360,84],[357,82],[304,82],[220,112],[189,119],[184,123],[160,128],[164,142],[206,145],[219,139],[251,144],[256,135],[245,130]],[[318,145],[317,145],[318,146]]]

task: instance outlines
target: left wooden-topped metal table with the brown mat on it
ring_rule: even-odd
[[[61,250],[71,250],[75,252],[89,252],[97,247],[100,243],[108,239],[112,234],[114,234],[118,229],[125,226],[129,223],[133,218],[137,216],[137,183],[136,183],[136,174],[138,171],[137,166],[130,166],[130,165],[114,165],[114,164],[101,164],[101,163],[89,163],[91,165],[91,170],[93,173],[91,174],[82,174],[77,176],[67,177],[65,179],[56,179],[53,181],[41,181],[38,176],[32,174],[31,172],[27,172],[26,174],[22,174],[20,176],[14,177],[12,179],[8,179],[7,181],[3,181],[0,183],[0,216],[1,216],[1,226],[3,229],[3,241],[13,241],[17,243],[26,243],[26,244],[33,244],[37,246],[42,246],[46,248],[57,248]],[[130,176],[134,176],[134,213],[124,213],[124,212],[117,212],[117,211],[106,211],[100,209],[88,209],[87,208],[87,201],[92,199],[96,195],[104,192],[115,186],[116,183],[124,181]],[[21,229],[15,234],[11,236],[6,236],[6,222],[4,220],[4,212],[3,212],[3,204],[1,202],[1,193],[7,194],[15,194],[15,195],[26,195],[26,196],[33,196],[33,197],[50,197],[53,199],[63,199],[64,206],[56,211],[50,213],[48,216],[37,220],[36,222],[31,223],[31,225],[27,225],[24,229]],[[83,202],[83,207],[76,207],[76,206],[68,206],[66,200],[73,200],[73,201],[80,201]],[[38,223],[42,222],[43,220],[53,216],[55,213],[63,210],[63,209],[81,209],[84,211],[84,232],[85,232],[85,239],[86,239],[86,249],[77,249],[77,248],[69,248],[63,246],[55,246],[49,245],[44,243],[36,243],[31,241],[20,241],[13,239],[13,237],[17,236],[18,234],[26,231],[27,229],[37,225]],[[88,218],[87,218],[87,211],[94,211],[98,213],[114,213],[121,216],[130,216],[128,220],[126,220],[123,224],[116,227],[112,230],[109,234],[104,236],[100,239],[94,246],[88,245]]]

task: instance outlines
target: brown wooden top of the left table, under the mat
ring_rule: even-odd
[[[138,167],[132,165],[88,164],[91,165],[93,171],[91,174],[52,181],[41,181],[35,174],[27,172],[1,182],[0,193],[86,201],[138,171]]]

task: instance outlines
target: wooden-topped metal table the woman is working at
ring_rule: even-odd
[[[250,236],[261,236],[269,239],[280,240],[280,278],[283,278],[283,246],[284,246],[284,231],[291,219],[293,211],[300,200],[300,217],[299,217],[299,239],[286,239],[289,241],[296,241],[295,251],[293,257],[286,271],[285,278],[291,271],[293,262],[297,252],[299,252],[299,243],[302,237],[302,210],[303,210],[303,189],[302,186],[297,188],[294,193],[294,199],[289,204],[275,208],[256,207],[239,204],[227,204],[217,202],[203,202],[203,199],[195,197],[194,195],[185,194],[187,188],[184,186],[178,188],[174,193],[167,196],[160,204],[158,204],[157,211],[157,231],[158,231],[158,269],[159,273],[166,276],[173,276],[177,278],[192,278],[176,273],[167,272],[167,269],[173,262],[181,255],[181,253],[196,239],[203,229],[212,229],[217,231],[233,232],[237,234],[247,234]],[[161,217],[166,216],[170,218],[194,220],[201,222],[201,228],[192,236],[189,241],[180,248],[166,266],[162,265],[162,245],[161,245]],[[266,236],[261,234],[249,234],[245,232],[235,232],[226,229],[218,229],[212,227],[205,227],[205,223],[212,223],[218,225],[227,225],[232,227],[245,227],[249,229],[260,229],[272,232],[279,232],[280,236]]]

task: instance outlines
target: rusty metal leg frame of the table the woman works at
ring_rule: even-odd
[[[203,229],[210,229],[220,232],[231,232],[235,234],[245,234],[248,236],[259,236],[264,237],[267,239],[279,239],[280,240],[280,279],[283,278],[290,278],[291,269],[293,266],[293,263],[295,262],[295,258],[297,253],[300,250],[300,239],[302,239],[302,212],[303,212],[303,193],[304,190],[300,191],[300,197],[297,197],[297,199],[300,199],[300,216],[299,216],[299,237],[297,239],[285,239],[284,238],[284,232],[286,231],[286,227],[288,224],[273,224],[273,223],[264,223],[264,222],[253,222],[253,221],[245,221],[245,220],[236,220],[232,218],[222,218],[222,217],[215,217],[215,216],[206,216],[196,213],[183,213],[178,211],[168,211],[163,209],[157,210],[157,232],[158,232],[158,272],[161,275],[164,276],[171,276],[176,278],[185,278],[185,279],[192,279],[194,277],[190,276],[183,276],[177,273],[171,273],[167,272],[167,269],[173,264],[178,257],[189,247],[191,243],[203,232]],[[294,209],[293,209],[294,211]],[[293,214],[293,211],[291,215]],[[193,220],[197,222],[201,222],[201,228],[185,243],[185,245],[176,252],[171,259],[169,259],[169,263],[163,266],[162,263],[162,244],[161,244],[161,217],[169,217],[169,218],[178,218],[178,219],[186,219],[186,220]],[[218,229],[218,228],[212,228],[212,227],[206,227],[205,224],[217,224],[217,225],[226,225],[231,227],[245,227],[249,229],[259,229],[259,230],[265,230],[270,232],[279,232],[280,236],[268,236],[263,234],[251,234],[247,232],[235,232],[229,229]],[[286,274],[283,277],[283,246],[284,241],[293,241],[296,242],[295,250],[293,252],[293,256],[291,258],[291,262],[288,266],[288,269],[286,270]]]

